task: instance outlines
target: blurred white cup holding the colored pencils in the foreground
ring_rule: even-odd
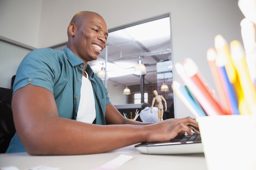
[[[256,170],[256,116],[198,117],[208,170]]]

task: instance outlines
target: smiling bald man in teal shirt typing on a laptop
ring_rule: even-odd
[[[106,47],[108,29],[98,14],[76,13],[63,50],[36,49],[21,62],[13,86],[16,127],[7,152],[31,155],[100,153],[140,142],[168,141],[197,122],[168,119],[151,124],[126,119],[111,104],[89,61]]]

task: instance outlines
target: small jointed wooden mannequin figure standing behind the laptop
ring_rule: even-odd
[[[155,97],[153,98],[153,101],[152,101],[152,105],[151,105],[151,113],[153,113],[153,107],[154,107],[154,104],[155,104],[155,101],[157,102],[157,108],[158,108],[158,122],[159,121],[163,121],[163,116],[164,116],[164,106],[165,106],[165,111],[167,110],[167,103],[166,103],[166,100],[164,99],[164,97],[162,95],[158,95],[157,91],[154,90],[153,91]],[[163,106],[163,103],[162,101],[164,101],[164,106]]]

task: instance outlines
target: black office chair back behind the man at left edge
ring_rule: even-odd
[[[5,153],[16,130],[11,110],[12,90],[0,87],[0,153]]]

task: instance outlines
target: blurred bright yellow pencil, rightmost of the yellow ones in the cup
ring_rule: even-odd
[[[239,41],[234,40],[230,43],[231,58],[238,72],[238,77],[242,87],[245,102],[249,107],[250,113],[253,113],[253,107],[256,104],[256,91],[249,75],[247,63],[245,60],[245,51]],[[245,114],[245,113],[243,113]]]

